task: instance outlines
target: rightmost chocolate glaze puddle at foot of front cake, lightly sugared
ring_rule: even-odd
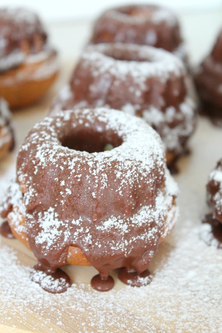
[[[146,286],[152,281],[152,275],[148,269],[138,274],[134,269],[127,267],[123,267],[119,270],[118,278],[123,283],[132,287]]]

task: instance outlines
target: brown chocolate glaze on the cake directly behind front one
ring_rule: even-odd
[[[86,52],[87,51],[101,53],[104,55],[104,60],[107,59],[108,61],[109,58],[119,61],[128,61],[129,68],[133,65],[132,62],[153,62],[155,66],[155,61],[161,61],[157,54],[156,58],[158,60],[155,59],[155,55],[153,55],[155,51],[153,51],[152,48],[142,48],[135,45],[127,46],[120,43],[102,44],[100,46],[89,46],[88,49],[86,49]],[[152,55],[148,55],[149,52]],[[164,60],[164,56],[166,56],[166,54],[162,54],[162,60]],[[136,96],[132,94],[129,89],[130,87],[133,87],[135,90],[140,89],[139,85],[135,83],[133,73],[131,76],[130,73],[128,73],[126,82],[124,81],[125,78],[122,78],[122,80],[119,79],[118,85],[115,83],[115,86],[112,86],[114,81],[117,81],[115,75],[108,72],[105,77],[103,77],[101,73],[101,77],[96,80],[94,77],[94,64],[93,62],[90,63],[89,60],[90,59],[87,59],[87,55],[83,55],[70,79],[70,86],[71,90],[75,92],[74,99],[76,103],[85,101],[87,97],[87,102],[90,105],[95,106],[99,100],[102,100],[104,104],[108,103],[111,108],[116,110],[121,110],[122,106],[126,103],[131,103],[132,105],[138,104],[137,116],[141,116],[143,110],[147,109],[150,105],[163,112],[169,106],[178,107],[178,105],[184,101],[187,94],[184,80],[185,69],[182,65],[181,68],[177,69],[181,72],[181,75],[174,75],[172,71],[172,73],[168,74],[169,78],[164,83],[163,81],[161,82],[160,78],[153,78],[153,75],[147,73],[147,78],[144,82],[146,89],[141,91],[141,95],[138,94],[138,96]],[[173,61],[172,59],[170,60]],[[124,66],[125,63],[123,62],[122,65]],[[179,65],[180,64],[178,64],[178,67]],[[144,75],[146,75],[146,73],[144,73]],[[102,84],[103,81],[104,84],[106,82],[106,86],[100,88],[99,85]],[[94,91],[90,92],[89,88],[92,84],[96,87]]]

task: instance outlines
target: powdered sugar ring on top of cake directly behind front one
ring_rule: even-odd
[[[128,44],[127,50],[130,52],[138,52],[138,59],[143,61],[116,60],[107,55],[105,52],[111,50],[111,45],[98,44],[90,45],[82,54],[82,59],[85,60],[86,66],[93,64],[95,77],[109,71],[117,79],[131,75],[134,81],[139,85],[140,89],[144,90],[144,82],[147,78],[158,77],[161,82],[166,82],[173,73],[175,76],[180,76],[185,69],[182,61],[162,49],[156,49],[150,46]],[[115,47],[122,48],[121,43],[115,43]],[[144,61],[146,59],[147,61]],[[89,64],[88,64],[89,62]]]

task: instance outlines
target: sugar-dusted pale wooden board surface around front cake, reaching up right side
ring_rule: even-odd
[[[221,157],[221,136],[221,129],[200,120],[191,139],[192,154],[181,159],[176,177],[180,218],[152,261],[150,285],[125,286],[113,271],[114,289],[100,293],[90,287],[94,268],[66,266],[74,283],[67,292],[52,295],[29,279],[36,263],[31,252],[2,238],[0,322],[44,333],[221,333],[222,251],[199,236],[201,216],[208,211],[205,184]],[[4,187],[14,174],[14,166],[10,168],[1,172]]]

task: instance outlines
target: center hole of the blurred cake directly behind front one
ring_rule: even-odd
[[[124,50],[113,48],[107,49],[103,52],[106,56],[113,58],[115,60],[122,61],[136,61],[136,62],[151,62],[148,58],[142,58],[139,56],[138,51],[136,50],[127,50],[127,47]]]

